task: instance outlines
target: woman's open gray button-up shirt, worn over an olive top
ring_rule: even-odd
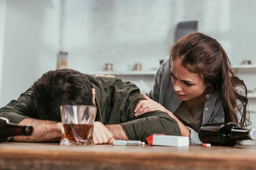
[[[153,90],[146,93],[146,95],[163,105],[167,110],[175,113],[182,100],[178,98],[176,92],[173,90],[174,85],[172,84],[169,58],[169,56],[166,57],[160,68],[158,68],[154,77]],[[224,122],[224,110],[219,91],[211,91],[205,95],[205,99],[202,124]],[[241,116],[239,116],[239,119],[241,119]],[[201,143],[198,133],[191,127],[186,127],[190,130],[189,142],[192,144]]]

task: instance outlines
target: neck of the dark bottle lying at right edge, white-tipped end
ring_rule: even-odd
[[[242,128],[233,128],[230,132],[230,138],[235,141],[242,140],[256,140],[256,129],[242,129]]]

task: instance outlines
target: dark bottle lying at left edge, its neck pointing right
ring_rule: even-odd
[[[10,123],[8,119],[0,117],[0,142],[6,142],[13,136],[31,136],[33,133],[32,126]]]

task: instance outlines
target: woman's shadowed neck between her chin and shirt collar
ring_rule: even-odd
[[[200,96],[197,96],[193,99],[187,100],[186,105],[187,105],[189,111],[191,111],[193,108],[197,107],[198,105],[201,105],[202,103],[204,103],[205,102],[205,95],[208,94],[210,91],[212,91],[212,86],[211,85],[207,86],[204,93],[201,94]]]

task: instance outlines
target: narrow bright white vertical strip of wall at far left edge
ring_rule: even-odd
[[[2,85],[2,70],[3,70],[3,48],[4,48],[4,33],[6,22],[6,0],[0,0],[0,103],[1,103],[1,85]]]

